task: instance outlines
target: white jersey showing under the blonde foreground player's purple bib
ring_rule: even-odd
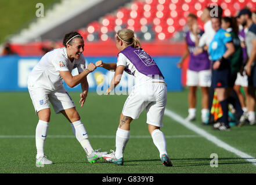
[[[123,65],[125,66],[125,68],[129,69],[129,71],[131,71],[131,73],[129,73],[130,75],[134,75],[135,77],[135,84],[145,84],[145,83],[150,83],[150,82],[164,82],[164,79],[162,76],[159,76],[159,79],[156,78],[152,78],[150,76],[146,76],[143,73],[140,73],[138,71],[138,69],[135,68],[134,64],[132,64],[132,62],[125,57],[124,54],[119,53],[118,54],[118,58],[117,58],[117,66],[118,65]]]

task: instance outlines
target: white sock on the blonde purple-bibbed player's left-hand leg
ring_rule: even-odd
[[[117,128],[116,133],[116,158],[121,158],[124,155],[125,146],[130,138],[130,131],[125,131],[124,129]]]

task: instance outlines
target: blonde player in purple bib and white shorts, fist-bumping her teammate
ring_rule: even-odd
[[[153,143],[160,153],[164,166],[172,166],[166,150],[163,127],[164,110],[167,103],[167,84],[156,62],[141,47],[140,42],[134,36],[131,29],[121,29],[116,35],[118,53],[117,63],[96,62],[96,66],[108,70],[114,70],[107,94],[120,82],[122,73],[125,71],[135,77],[135,86],[125,101],[120,115],[120,124],[116,132],[116,151],[104,155],[106,161],[116,165],[123,165],[123,154],[130,136],[130,123],[138,119],[140,113],[146,109],[147,125],[152,136]]]

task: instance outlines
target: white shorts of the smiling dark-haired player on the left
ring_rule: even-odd
[[[28,86],[28,91],[36,114],[39,110],[50,108],[50,102],[56,114],[60,113],[61,110],[75,107],[73,100],[64,87],[51,91],[45,88]]]

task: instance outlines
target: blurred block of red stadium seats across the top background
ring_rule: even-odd
[[[223,9],[223,16],[235,16],[240,9],[248,7],[256,10],[256,0],[135,0],[130,6],[123,6],[116,13],[106,14],[100,21],[93,21],[86,28],[77,31],[89,42],[113,40],[115,32],[121,28],[130,28],[144,41],[166,41],[174,36],[175,32],[182,31],[186,26],[189,13],[196,14],[199,27],[203,29],[204,23],[200,16],[206,6],[217,3]],[[42,47],[43,42],[28,43],[21,53],[28,52],[33,45]],[[44,43],[45,45],[45,43]],[[23,50],[26,50],[26,52]],[[29,52],[28,52],[29,53]]]

